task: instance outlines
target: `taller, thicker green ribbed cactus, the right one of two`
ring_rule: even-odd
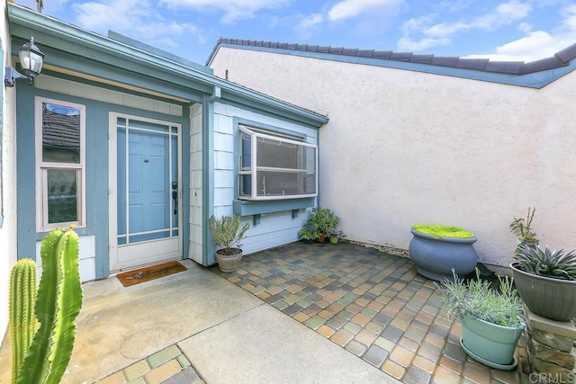
[[[72,356],[76,316],[82,308],[78,237],[73,229],[54,229],[42,240],[43,271],[34,307],[40,328],[17,383],[58,383]]]

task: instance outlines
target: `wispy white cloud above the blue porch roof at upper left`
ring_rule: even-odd
[[[72,4],[76,23],[91,31],[107,34],[116,31],[150,45],[175,48],[176,38],[193,36],[203,43],[205,37],[193,24],[166,20],[148,0],[103,0]]]

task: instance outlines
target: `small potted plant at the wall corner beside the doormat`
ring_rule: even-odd
[[[246,237],[246,231],[250,227],[248,223],[241,224],[240,217],[222,216],[216,219],[212,216],[208,223],[214,244],[220,246],[216,251],[216,261],[221,272],[234,272],[238,270],[242,260],[242,249],[238,248],[238,242]]]

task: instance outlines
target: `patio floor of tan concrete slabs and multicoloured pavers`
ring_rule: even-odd
[[[183,263],[129,288],[86,283],[63,382],[519,382],[464,354],[459,322],[408,258],[293,243],[227,274]]]

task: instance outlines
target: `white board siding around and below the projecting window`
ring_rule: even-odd
[[[234,141],[238,137],[238,127],[234,124],[234,118],[303,133],[311,144],[317,144],[318,140],[316,129],[249,112],[224,103],[215,103],[214,215],[216,217],[231,215],[233,213],[232,201],[238,199],[235,188],[238,175],[235,174],[234,168],[236,156],[238,156]],[[242,241],[244,254],[298,240],[298,231],[302,228],[306,218],[306,214],[299,214],[297,218],[293,218],[292,210],[284,210],[262,215],[260,223],[254,226],[252,216],[243,217],[242,221],[250,224],[247,237]]]

